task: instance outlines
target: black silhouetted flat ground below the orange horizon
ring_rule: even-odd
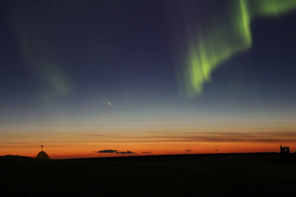
[[[294,196],[295,153],[0,157],[0,196]]]

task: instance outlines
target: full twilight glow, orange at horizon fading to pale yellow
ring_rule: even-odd
[[[77,121],[7,123],[1,128],[0,155],[36,157],[43,145],[43,151],[51,159],[279,152],[280,145],[289,146],[290,152],[296,149],[292,123],[229,123],[225,126],[187,124],[186,121],[114,121],[98,126],[93,122]],[[97,153],[108,149],[135,153]]]

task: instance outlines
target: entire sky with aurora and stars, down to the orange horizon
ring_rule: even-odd
[[[296,1],[1,1],[0,16],[0,155],[296,150]]]

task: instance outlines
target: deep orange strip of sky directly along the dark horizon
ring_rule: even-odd
[[[278,145],[276,145],[278,144]],[[290,152],[295,152],[296,144],[286,143],[290,147]],[[279,152],[280,143],[242,143],[242,142],[203,142],[197,144],[169,143],[156,146],[156,144],[134,144],[133,148],[124,148],[124,146],[114,144],[113,147],[120,152],[131,151],[133,154],[115,154],[115,153],[97,153],[99,149],[108,148],[93,147],[54,147],[53,145],[44,146],[43,151],[46,152],[51,159],[69,159],[69,158],[91,158],[91,157],[121,157],[121,156],[139,156],[139,155],[160,155],[160,154],[214,154],[214,153],[248,153],[248,152]],[[150,147],[150,148],[149,148]],[[188,151],[186,151],[188,150]],[[20,155],[27,157],[36,157],[39,147],[21,147],[1,149],[0,155]],[[147,152],[147,153],[143,153]],[[149,153],[151,152],[151,153]]]

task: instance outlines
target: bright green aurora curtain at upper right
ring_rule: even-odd
[[[228,15],[213,14],[209,26],[196,28],[188,38],[189,55],[184,68],[178,71],[179,85],[189,96],[202,93],[211,72],[229,58],[252,46],[250,23],[256,17],[278,17],[295,10],[296,1],[229,1]],[[227,12],[226,11],[226,12]]]

